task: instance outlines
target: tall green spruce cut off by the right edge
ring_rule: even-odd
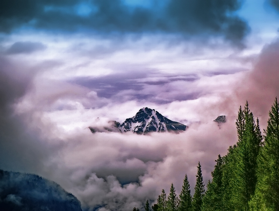
[[[260,172],[263,195],[268,206],[279,211],[279,104],[277,97],[269,111],[267,130],[264,130],[262,150],[262,171]]]

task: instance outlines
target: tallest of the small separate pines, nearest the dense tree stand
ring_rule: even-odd
[[[193,196],[193,209],[194,211],[201,211],[201,206],[203,202],[203,196],[204,196],[204,184],[203,184],[203,176],[201,173],[201,164],[198,162],[198,173],[196,175],[196,186],[195,186],[195,194]]]

